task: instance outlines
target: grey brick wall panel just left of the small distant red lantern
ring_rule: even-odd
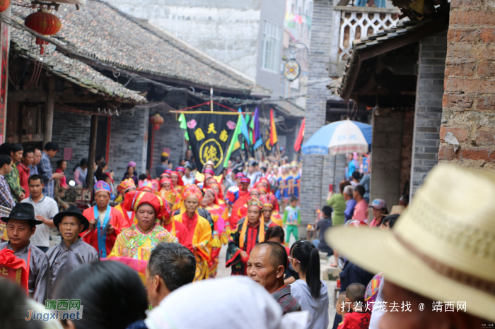
[[[136,162],[138,176],[146,173],[148,120],[149,109],[135,109],[133,116],[112,116],[108,168],[115,172],[115,184],[124,177],[129,161]]]

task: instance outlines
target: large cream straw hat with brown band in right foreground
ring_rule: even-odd
[[[396,285],[495,321],[494,174],[438,164],[392,230],[339,227],[326,239]]]

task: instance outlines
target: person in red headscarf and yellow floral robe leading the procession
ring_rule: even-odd
[[[150,192],[131,192],[129,195],[134,196],[132,210],[136,213],[137,224],[122,230],[108,259],[129,265],[138,272],[144,282],[144,269],[151,250],[161,242],[177,242],[177,238],[159,222],[163,217],[170,217],[170,208],[165,201]],[[154,213],[141,215],[138,210],[144,205],[151,206]]]

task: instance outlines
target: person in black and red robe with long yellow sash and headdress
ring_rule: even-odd
[[[257,217],[250,220],[249,209],[259,210]],[[246,263],[249,255],[256,244],[264,241],[264,232],[268,227],[263,220],[263,204],[258,198],[251,197],[248,200],[248,216],[242,218],[238,222],[237,229],[231,234],[231,239],[228,241],[226,267],[232,268],[232,275],[246,275]],[[243,257],[242,253],[247,253]]]

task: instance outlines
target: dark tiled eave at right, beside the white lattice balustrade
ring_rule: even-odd
[[[419,32],[420,30],[421,32],[424,32],[425,25],[429,26],[433,24],[438,25],[438,20],[433,18],[414,21],[401,20],[394,28],[385,28],[385,30],[375,33],[374,35],[362,37],[361,40],[354,40],[351,49],[351,56],[349,56],[349,59],[347,61],[346,71],[344,73],[342,84],[338,91],[340,96],[345,98],[344,94],[347,93],[348,95],[350,95],[349,90],[347,89],[351,88],[353,77],[356,78],[354,74],[356,72],[354,71],[359,69],[357,65],[358,61],[362,60],[360,54],[365,51],[378,48],[381,45],[385,44],[385,42],[394,42],[394,40],[397,40],[398,42],[398,39],[400,37],[404,37],[409,33]],[[434,28],[431,29],[431,34],[437,32],[438,30],[435,30]],[[412,42],[414,42],[414,40],[412,40]]]

